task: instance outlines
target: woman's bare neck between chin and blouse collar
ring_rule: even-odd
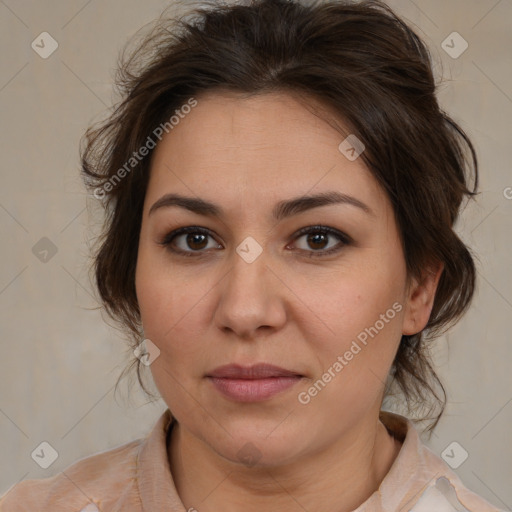
[[[379,487],[401,444],[380,421],[353,429],[335,445],[279,467],[246,467],[214,452],[175,423],[168,455],[187,510],[201,512],[350,512]]]

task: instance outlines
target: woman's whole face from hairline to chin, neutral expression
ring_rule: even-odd
[[[155,149],[145,198],[150,368],[189,435],[232,461],[291,462],[375,425],[430,299],[407,287],[392,207],[338,131],[289,95],[197,101]],[[338,200],[295,202],[321,194]]]

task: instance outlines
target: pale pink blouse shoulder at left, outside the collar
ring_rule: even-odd
[[[143,441],[80,459],[52,477],[13,485],[0,497],[0,512],[78,512],[92,503],[91,496],[104,497],[103,503],[94,501],[99,509],[110,507],[120,496],[136,492],[137,457]]]

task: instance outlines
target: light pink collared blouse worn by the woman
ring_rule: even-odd
[[[410,420],[384,411],[380,418],[402,448],[379,489],[354,512],[500,512],[466,489],[423,445]],[[81,459],[53,477],[11,486],[0,512],[194,512],[185,509],[170,472],[170,425],[167,409],[144,439]]]

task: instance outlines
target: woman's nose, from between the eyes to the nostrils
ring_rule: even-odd
[[[278,331],[286,322],[286,286],[268,265],[265,251],[251,263],[233,254],[231,270],[219,283],[217,327],[238,338]]]

